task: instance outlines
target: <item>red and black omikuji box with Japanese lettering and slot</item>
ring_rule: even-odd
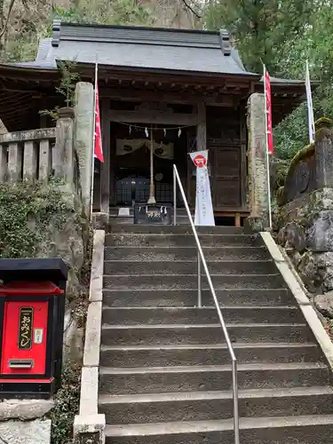
[[[0,397],[49,398],[59,388],[67,266],[0,259]]]

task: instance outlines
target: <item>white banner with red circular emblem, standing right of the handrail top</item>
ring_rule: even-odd
[[[196,167],[195,226],[215,226],[208,174],[208,150],[189,153]]]

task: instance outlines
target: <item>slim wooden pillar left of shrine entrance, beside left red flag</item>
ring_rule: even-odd
[[[109,214],[110,206],[110,121],[107,119],[109,109],[110,99],[101,99],[104,163],[100,165],[100,212],[105,214]]]

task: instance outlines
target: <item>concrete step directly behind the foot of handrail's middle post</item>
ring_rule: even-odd
[[[114,283],[114,281],[112,281]],[[111,282],[110,282],[111,284]],[[269,283],[267,281],[267,287]],[[153,287],[153,286],[152,286]],[[283,287],[283,286],[282,286]],[[215,289],[223,305],[294,305],[295,298],[288,289]],[[197,305],[197,289],[104,289],[105,305],[129,306],[194,306]],[[202,304],[213,305],[209,289],[202,290]]]

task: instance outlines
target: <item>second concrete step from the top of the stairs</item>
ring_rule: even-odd
[[[223,247],[226,245],[261,246],[262,240],[258,235],[249,234],[200,234],[202,246]],[[106,235],[106,246],[149,246],[149,247],[191,247],[195,246],[193,234],[138,234],[118,233]]]

